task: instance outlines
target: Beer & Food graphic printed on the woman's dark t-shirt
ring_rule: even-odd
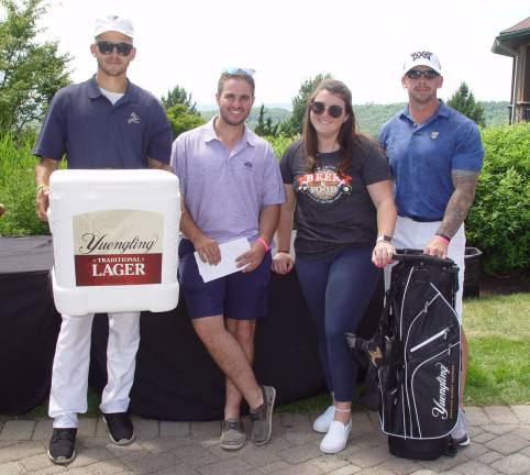
[[[333,202],[352,192],[352,177],[339,176],[334,168],[318,168],[298,177],[298,191],[318,202]]]

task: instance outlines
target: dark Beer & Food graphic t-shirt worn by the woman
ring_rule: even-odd
[[[347,246],[375,244],[377,212],[366,187],[390,179],[390,169],[377,144],[357,140],[353,163],[342,175],[339,152],[319,154],[314,172],[308,170],[300,142],[281,157],[284,183],[292,186],[297,198],[297,255],[322,257]]]

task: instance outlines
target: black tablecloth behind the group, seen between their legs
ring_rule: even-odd
[[[360,335],[374,333],[382,308],[383,278]],[[99,391],[107,382],[107,316],[97,316],[90,385]],[[295,272],[272,276],[269,311],[256,329],[254,369],[260,383],[276,388],[278,405],[325,391],[316,329]],[[183,298],[172,312],[142,313],[131,410],[153,419],[214,420],[223,405],[223,375],[195,334]]]

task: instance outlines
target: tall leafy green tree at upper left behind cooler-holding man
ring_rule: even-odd
[[[57,89],[68,85],[70,57],[57,42],[36,43],[42,0],[0,0],[0,132],[19,134],[41,121]]]

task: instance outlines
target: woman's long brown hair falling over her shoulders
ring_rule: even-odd
[[[353,163],[355,150],[357,148],[358,144],[358,134],[355,132],[356,121],[352,107],[352,91],[344,82],[336,79],[323,79],[313,90],[311,96],[309,96],[308,102],[306,104],[306,114],[303,115],[305,120],[302,142],[306,152],[307,166],[310,172],[314,172],[318,162],[317,155],[319,152],[319,142],[317,131],[311,123],[310,104],[318,96],[318,93],[322,90],[327,90],[333,96],[341,98],[345,104],[345,113],[347,114],[347,120],[341,125],[339,135],[336,136],[336,141],[339,142],[340,146],[340,161],[336,168],[339,175],[342,175]]]

